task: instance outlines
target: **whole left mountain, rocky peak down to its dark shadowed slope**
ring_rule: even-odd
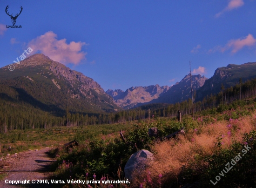
[[[93,79],[43,54],[34,54],[15,70],[0,68],[1,101],[25,103],[43,111],[65,115],[71,112],[115,112],[113,99]]]

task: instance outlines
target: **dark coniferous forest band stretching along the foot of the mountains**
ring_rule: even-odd
[[[11,83],[13,81],[13,83]],[[23,88],[15,87],[14,83],[20,82],[22,78],[2,81],[0,84],[0,131],[7,132],[13,129],[33,129],[50,127],[75,127],[96,124],[112,124],[125,121],[142,120],[155,115],[156,117],[175,117],[177,110],[182,114],[192,113],[191,99],[188,101],[177,102],[175,104],[149,104],[129,110],[119,112],[99,113],[93,110],[82,112],[82,105],[69,105],[69,99],[63,97],[53,97],[55,103],[61,107],[49,105],[49,101],[41,102],[32,100],[31,96],[25,92],[27,88],[33,88],[34,94],[41,94],[40,87],[27,87],[30,82],[24,82]],[[6,83],[5,83],[6,82]],[[10,83],[9,83],[10,82]],[[10,85],[10,87],[6,87]],[[216,108],[223,111],[225,106],[233,101],[245,99],[256,95],[256,79],[245,82],[240,80],[234,87],[225,88],[222,84],[221,91],[218,94],[204,96],[202,101],[196,100],[196,91],[194,94],[194,112]],[[54,91],[54,90],[53,90]],[[49,89],[48,95],[56,96]],[[43,96],[43,95],[42,95]],[[65,99],[61,101],[61,99]],[[62,103],[62,104],[61,104]],[[70,103],[71,104],[71,103]],[[79,108],[79,106],[81,108]],[[149,114],[150,113],[150,114]]]

